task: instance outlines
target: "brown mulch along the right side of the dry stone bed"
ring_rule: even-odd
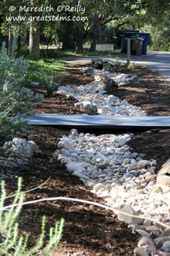
[[[120,86],[114,90],[115,96],[140,106],[149,116],[170,116],[170,83],[163,77],[148,67],[138,66],[130,70],[120,67],[115,71],[138,74],[138,82]],[[170,130],[151,129],[135,132],[128,145],[135,152],[146,154],[146,159],[156,158],[160,168],[169,159]]]

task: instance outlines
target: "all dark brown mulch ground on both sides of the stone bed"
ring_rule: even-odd
[[[127,72],[123,67],[120,69],[121,72]],[[113,90],[114,95],[127,99],[136,106],[141,106],[150,115],[170,116],[169,85],[161,77],[153,74],[150,69],[138,67],[137,72],[140,81]],[[62,83],[79,86],[91,81],[91,77],[84,77],[80,74],[79,68],[75,67],[68,69]],[[35,91],[45,92],[42,88]],[[38,104],[36,112],[87,113],[84,109],[75,108],[72,101],[57,93],[54,93],[51,98],[45,97],[44,101]],[[28,193],[27,200],[66,196],[104,203],[103,200],[91,194],[76,176],[69,174],[63,164],[55,158],[54,152],[58,149],[60,138],[68,133],[68,129],[32,127],[27,136],[19,135],[27,140],[34,140],[40,147],[41,153],[35,155],[27,165],[13,170],[1,169],[8,192],[12,193],[16,189],[18,176],[23,177],[24,189],[36,187],[50,177],[50,181],[41,189]],[[135,152],[146,153],[146,159],[156,157],[161,166],[169,158],[169,135],[168,129],[135,132],[129,145]],[[19,223],[22,234],[31,234],[30,244],[34,243],[37,235],[40,234],[43,215],[48,217],[47,229],[61,217],[66,221],[63,238],[57,252],[53,252],[53,255],[128,256],[133,255],[133,249],[138,243],[138,236],[132,234],[124,223],[120,223],[111,211],[75,202],[55,201],[24,206]]]

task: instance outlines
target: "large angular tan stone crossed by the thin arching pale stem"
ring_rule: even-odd
[[[128,223],[128,224],[140,224],[141,223],[141,218],[135,218],[135,216],[138,216],[138,213],[136,213],[135,210],[130,205],[125,205],[121,209],[121,212],[127,213],[130,216],[125,215],[123,213],[119,213],[118,218],[120,221],[124,221],[125,223]]]

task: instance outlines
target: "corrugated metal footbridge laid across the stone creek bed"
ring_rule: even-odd
[[[87,114],[35,114],[27,118],[30,125],[81,128],[170,128],[170,116],[107,116]]]

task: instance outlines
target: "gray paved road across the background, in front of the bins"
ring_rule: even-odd
[[[68,64],[86,64],[91,61],[91,58],[97,58],[94,57],[66,57],[63,58],[63,61],[66,61]],[[126,59],[118,59],[118,58],[112,58],[112,57],[102,57],[106,60],[121,60],[123,62],[126,61]],[[147,55],[143,56],[132,56],[131,62],[134,62],[136,64],[141,64],[143,66],[149,66],[151,67],[157,74],[160,74],[161,76],[165,77],[167,81],[170,82],[170,52],[161,52],[161,51],[149,51]]]

